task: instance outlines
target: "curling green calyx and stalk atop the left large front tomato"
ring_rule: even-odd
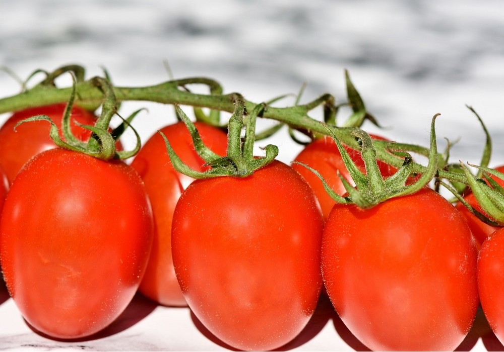
[[[80,67],[80,66],[76,66]],[[79,81],[82,81],[82,77],[84,72],[78,70],[74,66],[64,67],[63,69],[59,69],[56,73],[47,74],[47,78],[39,83],[37,87],[38,89],[43,89],[46,85],[53,85],[54,79],[57,75],[71,72],[73,79],[73,89],[71,90],[70,98],[65,108],[64,116],[61,121],[61,126],[57,126],[48,116],[46,115],[37,115],[27,119],[24,119],[18,122],[15,126],[19,126],[23,123],[29,123],[31,121],[48,121],[51,124],[51,129],[49,135],[53,140],[54,144],[56,144],[60,148],[73,150],[77,152],[81,152],[84,154],[91,155],[98,159],[102,160],[110,160],[110,159],[126,159],[133,155],[135,155],[140,150],[140,136],[137,131],[133,129],[136,137],[137,144],[133,150],[130,151],[118,151],[116,150],[116,141],[122,135],[124,130],[127,127],[131,127],[131,121],[135,118],[135,116],[142,110],[135,111],[132,115],[130,115],[127,119],[122,119],[122,124],[116,127],[114,130],[109,132],[109,124],[110,120],[114,115],[117,114],[117,99],[113,92],[113,87],[110,81],[106,78],[95,77],[92,79],[94,84],[98,86],[103,92],[103,103],[102,103],[102,111],[99,118],[96,120],[94,126],[78,124],[80,127],[90,130],[92,132],[91,137],[87,142],[81,141],[74,136],[70,126],[70,118],[72,106],[76,97],[76,85]],[[74,72],[79,73],[78,76],[74,74]],[[59,128],[61,128],[61,134],[63,138],[60,137]]]

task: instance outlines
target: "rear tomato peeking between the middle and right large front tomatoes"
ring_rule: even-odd
[[[371,137],[374,139],[386,140],[385,138],[376,135],[371,135]],[[359,169],[361,169],[361,171],[365,171],[364,161],[360,156],[360,152],[348,147],[346,150]],[[346,193],[346,190],[338,177],[337,171],[339,171],[350,184],[354,184],[343,159],[341,158],[338,147],[331,137],[326,136],[314,140],[304,147],[304,149],[296,156],[294,161],[302,162],[319,171],[324,180],[337,194],[341,196]],[[396,168],[382,161],[378,161],[378,166],[384,177],[390,176],[397,171]],[[324,219],[327,219],[336,202],[324,189],[322,181],[316,174],[302,165],[292,164],[292,167],[302,175],[302,177],[313,189],[322,208]]]

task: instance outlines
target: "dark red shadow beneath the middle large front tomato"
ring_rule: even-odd
[[[331,319],[331,317],[333,317],[334,314],[336,314],[336,312],[334,311],[333,306],[331,305],[329,299],[327,299],[327,297],[324,298],[321,295],[321,298],[319,299],[319,302],[317,304],[317,308],[313,312],[313,315],[311,316],[310,320],[308,320],[308,323],[303,328],[303,330],[301,330],[301,332],[293,340],[291,340],[290,342],[286,343],[285,345],[279,348],[276,348],[275,350],[287,351],[299,347],[304,343],[308,342],[313,337],[317,336],[317,334],[324,328],[324,326]],[[208,330],[205,327],[205,325],[203,325],[203,323],[192,311],[191,311],[191,319],[193,320],[193,323],[196,326],[196,328],[210,341],[229,350],[233,351],[239,350],[223,342],[212,332],[210,332],[210,330]]]

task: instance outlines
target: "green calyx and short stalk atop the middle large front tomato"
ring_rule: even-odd
[[[255,170],[272,162],[278,155],[278,147],[269,144],[264,148],[264,157],[254,156],[256,119],[266,110],[266,104],[258,104],[248,114],[246,113],[245,102],[241,95],[232,95],[232,99],[235,102],[235,110],[228,122],[226,156],[220,156],[211,151],[201,140],[200,134],[191,119],[185,115],[178,105],[175,105],[178,116],[181,117],[191,133],[198,155],[205,160],[206,166],[210,166],[206,171],[197,171],[188,167],[175,153],[168,138],[162,132],[159,132],[165,141],[171,163],[178,172],[194,179],[207,179],[219,176],[247,177]],[[243,128],[245,128],[245,134],[242,139],[241,133]]]

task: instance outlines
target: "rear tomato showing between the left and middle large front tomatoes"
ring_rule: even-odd
[[[215,153],[226,154],[227,135],[216,127],[195,123],[203,142]],[[204,171],[205,161],[193,146],[182,122],[168,125],[161,132],[180,159],[191,168]],[[163,137],[156,133],[144,144],[131,164],[144,180],[154,214],[154,241],[140,292],[166,306],[186,306],[178,285],[171,256],[173,211],[182,191],[194,179],[177,172],[170,163]]]

